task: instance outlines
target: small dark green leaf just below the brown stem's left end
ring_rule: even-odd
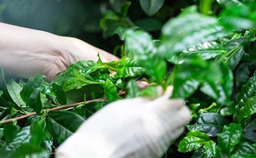
[[[6,143],[7,144],[11,143],[19,131],[20,131],[19,126],[15,126],[12,124],[4,125],[3,135],[5,136]]]

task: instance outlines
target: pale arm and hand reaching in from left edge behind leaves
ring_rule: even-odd
[[[0,66],[7,75],[29,78],[46,75],[50,81],[67,66],[80,60],[105,62],[117,57],[76,38],[0,23]]]

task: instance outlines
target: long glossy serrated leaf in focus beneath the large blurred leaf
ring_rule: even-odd
[[[226,54],[226,48],[216,42],[204,42],[194,47],[189,47],[180,53],[166,56],[166,60],[174,64],[181,64],[191,56],[200,56],[204,60],[212,59],[221,54]]]

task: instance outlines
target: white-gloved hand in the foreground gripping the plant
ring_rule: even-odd
[[[56,151],[57,158],[156,158],[184,130],[190,111],[183,99],[113,102],[85,121]]]

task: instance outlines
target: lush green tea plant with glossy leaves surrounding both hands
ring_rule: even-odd
[[[157,86],[170,85],[192,117],[165,156],[256,156],[256,2],[202,0],[163,27],[156,21],[164,0],[139,2],[151,18],[133,23],[132,3],[110,0],[114,11],[100,21],[105,37],[123,41],[117,62],[74,63],[51,83],[43,75],[6,83],[0,69],[1,156],[49,157],[109,102],[155,97]],[[158,39],[146,32],[160,28]],[[140,81],[149,86],[140,89]]]

